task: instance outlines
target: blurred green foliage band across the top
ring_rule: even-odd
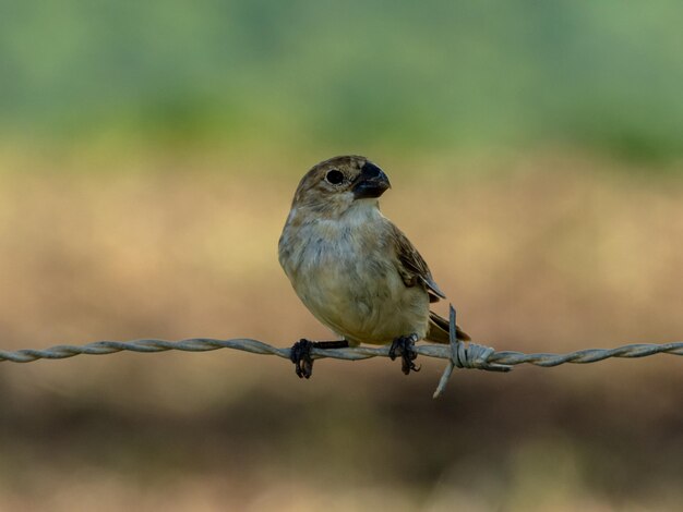
[[[0,0],[0,133],[673,161],[682,25],[675,0]]]

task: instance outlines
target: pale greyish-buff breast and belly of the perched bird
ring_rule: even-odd
[[[400,279],[391,239],[368,228],[317,222],[286,229],[280,263],[320,321],[351,342],[386,343],[426,328],[429,300]]]

